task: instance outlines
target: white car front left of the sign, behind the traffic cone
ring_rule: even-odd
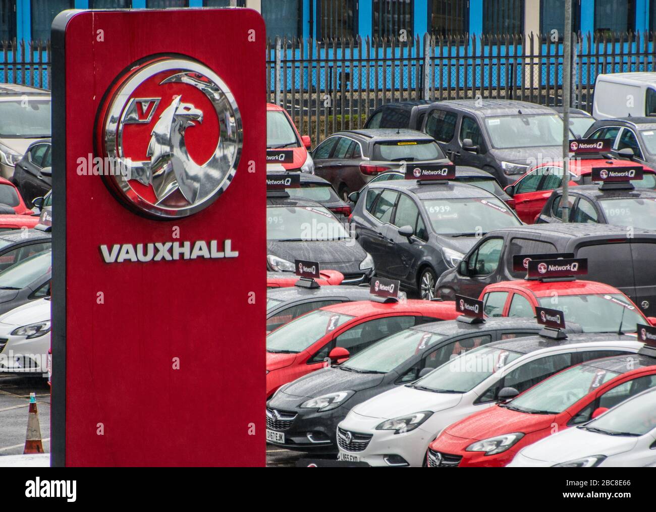
[[[48,374],[50,298],[28,302],[0,316],[0,373]]]

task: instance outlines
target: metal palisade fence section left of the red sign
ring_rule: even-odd
[[[50,89],[50,41],[0,42],[0,82]]]

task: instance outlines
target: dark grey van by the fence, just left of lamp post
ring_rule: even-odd
[[[486,170],[502,187],[539,161],[559,159],[563,153],[558,113],[516,100],[437,102],[430,106],[422,130],[453,163]]]

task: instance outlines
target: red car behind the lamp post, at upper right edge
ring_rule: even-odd
[[[603,158],[571,159],[569,172],[571,180],[569,186],[589,185],[592,183],[592,168],[607,167],[635,167],[636,163],[626,160],[613,160]],[[522,178],[508,185],[504,190],[512,197],[506,201],[515,209],[517,216],[526,224],[533,224],[554,189],[562,186],[562,162],[539,165],[532,168]],[[656,188],[656,174],[650,167],[644,167],[644,178],[634,183],[636,187]],[[560,174],[558,174],[560,172]]]

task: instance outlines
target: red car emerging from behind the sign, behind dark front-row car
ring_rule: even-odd
[[[266,397],[328,364],[343,363],[369,345],[422,323],[453,320],[454,302],[374,300],[315,309],[266,336]]]

